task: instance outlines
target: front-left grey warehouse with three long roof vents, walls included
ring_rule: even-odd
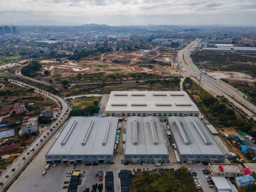
[[[113,163],[118,117],[70,117],[45,154],[47,163]]]

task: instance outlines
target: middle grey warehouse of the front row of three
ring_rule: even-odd
[[[127,117],[125,162],[163,163],[169,153],[158,117]]]

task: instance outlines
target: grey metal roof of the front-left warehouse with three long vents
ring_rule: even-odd
[[[76,121],[76,125],[72,132],[69,132],[74,121]],[[108,135],[105,137],[106,126],[109,121],[110,127]],[[118,117],[70,117],[46,155],[113,154],[117,125]],[[89,131],[90,127],[91,130]],[[64,139],[65,144],[61,145]],[[102,143],[105,145],[102,145]]]

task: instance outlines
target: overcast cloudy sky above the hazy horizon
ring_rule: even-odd
[[[0,0],[0,24],[256,25],[256,0]]]

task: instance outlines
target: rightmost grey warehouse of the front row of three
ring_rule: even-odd
[[[224,162],[226,154],[199,117],[168,117],[167,124],[179,162]]]

